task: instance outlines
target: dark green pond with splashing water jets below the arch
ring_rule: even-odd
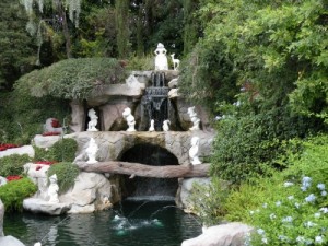
[[[139,198],[90,214],[5,214],[4,233],[26,246],[178,246],[201,234],[201,224],[171,199]]]

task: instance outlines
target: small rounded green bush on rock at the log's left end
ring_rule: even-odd
[[[52,164],[47,175],[48,178],[54,174],[57,175],[59,192],[62,194],[74,185],[79,173],[79,167],[75,164],[72,164],[71,162],[61,162]]]

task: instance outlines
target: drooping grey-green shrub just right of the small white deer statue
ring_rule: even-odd
[[[220,43],[199,42],[183,60],[179,77],[179,92],[211,110],[215,108],[213,102],[233,102],[239,91],[233,63],[220,48]]]

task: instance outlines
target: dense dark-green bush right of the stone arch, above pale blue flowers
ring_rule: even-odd
[[[212,175],[235,184],[268,176],[274,168],[284,168],[278,159],[293,147],[289,139],[304,137],[315,128],[315,120],[292,116],[288,107],[257,113],[256,104],[221,106],[226,114],[216,124]]]

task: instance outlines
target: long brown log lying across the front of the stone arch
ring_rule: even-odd
[[[125,174],[131,177],[154,178],[208,177],[210,169],[210,164],[152,166],[119,161],[98,162],[94,164],[79,162],[77,164],[83,172]]]

